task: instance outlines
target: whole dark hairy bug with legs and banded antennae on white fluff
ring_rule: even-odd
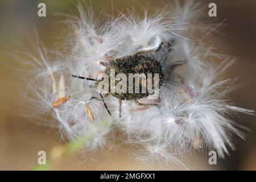
[[[112,59],[109,56],[105,56],[105,59],[108,60],[107,64],[103,64],[106,66],[105,69],[105,74],[110,76],[110,70],[114,69],[115,72],[115,76],[118,75],[118,73],[123,73],[126,76],[129,75],[129,73],[133,73],[133,74],[141,74],[144,73],[145,75],[147,75],[148,73],[152,74],[152,82],[154,82],[154,73],[158,73],[159,75],[159,88],[160,86],[163,84],[164,82],[164,74],[163,74],[163,68],[160,65],[158,60],[153,59],[150,56],[147,55],[143,55],[144,53],[148,53],[148,52],[156,52],[159,51],[159,49],[161,48],[163,43],[161,43],[159,45],[158,48],[151,50],[151,51],[146,51],[146,52],[138,52],[135,55],[131,55],[131,56],[125,56],[125,57],[121,57],[118,59]],[[88,77],[82,77],[82,76],[76,76],[76,75],[70,75],[72,77],[76,77],[76,78],[80,78],[80,79],[85,79],[85,80],[90,80],[90,81],[96,81],[96,88],[97,86],[100,84],[101,80],[97,80],[94,78],[88,78]],[[110,82],[109,82],[109,88],[111,87]],[[127,86],[129,88],[129,86]],[[135,85],[133,84],[133,90],[134,90]],[[148,90],[146,91],[146,93],[142,93],[142,85],[139,86],[140,90],[139,93],[106,93],[105,97],[108,97],[110,94],[115,97],[118,98],[118,102],[119,102],[119,117],[121,117],[121,113],[122,113],[122,101],[134,101],[135,104],[139,105],[139,106],[156,106],[159,104],[144,104],[139,102],[138,100],[141,98],[146,98],[147,96],[150,95],[150,93],[148,93]],[[110,90],[109,90],[110,91]],[[108,113],[110,115],[112,115],[108,109],[108,106],[105,103],[104,100],[104,96],[102,96],[102,93],[100,92],[100,99],[101,101],[104,103],[104,106],[106,108],[106,110],[108,110]],[[95,97],[91,98],[95,99]]]

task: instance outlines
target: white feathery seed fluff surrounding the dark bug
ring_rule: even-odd
[[[66,52],[56,51],[56,57],[50,60],[38,43],[39,57],[30,55],[35,67],[33,79],[27,82],[26,98],[34,111],[27,116],[44,121],[38,113],[51,115],[59,123],[61,134],[71,140],[84,138],[84,146],[90,150],[105,146],[109,134],[120,130],[123,140],[136,149],[131,154],[143,162],[179,163],[177,156],[199,148],[217,150],[224,157],[227,146],[234,148],[231,134],[243,137],[238,125],[228,118],[230,113],[252,111],[224,100],[229,80],[218,80],[218,76],[232,62],[213,53],[201,40],[193,39],[192,31],[202,29],[195,23],[200,10],[188,1],[184,6],[176,3],[171,13],[166,7],[154,16],[145,13],[141,17],[131,11],[98,21],[92,10],[79,6],[80,17],[67,18],[71,32],[62,45]],[[110,96],[105,98],[110,117],[102,100],[91,100],[99,97],[98,90],[91,88],[94,82],[68,76],[97,78],[105,70],[100,63],[108,62],[106,56],[117,59],[155,50],[160,44],[160,51],[147,54],[160,62],[166,80],[160,88],[159,106],[143,108],[133,101],[123,101],[119,118],[118,100]],[[216,62],[210,62],[214,58],[223,61],[216,66]],[[71,98],[52,107],[64,96]]]

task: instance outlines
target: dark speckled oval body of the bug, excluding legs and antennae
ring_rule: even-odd
[[[117,93],[117,92],[111,92],[113,86],[117,85],[119,80],[115,80],[114,84],[110,82],[109,80],[109,93],[112,94],[112,96],[118,98],[119,100],[137,100],[140,98],[147,97],[149,94],[148,89],[145,89],[146,92],[142,92],[142,88],[147,87],[148,85],[143,85],[142,80],[139,80],[139,92],[135,92],[135,79],[144,79],[147,81],[148,73],[151,73],[152,76],[152,82],[151,85],[152,89],[154,90],[154,81],[155,81],[155,75],[158,74],[158,86],[160,87],[163,84],[164,81],[164,75],[163,70],[158,61],[155,59],[152,59],[148,56],[139,56],[139,55],[133,55],[133,56],[126,56],[122,57],[120,59],[116,59],[112,61],[108,67],[105,69],[105,74],[108,75],[108,77],[111,77],[111,73],[114,70],[114,77],[116,77],[119,73],[122,73],[126,76],[126,78],[129,78],[131,75],[137,75],[139,77],[133,77],[132,82],[130,83],[130,80],[126,80],[127,90],[129,92],[127,93]],[[142,76],[142,77],[141,77]],[[138,80],[137,80],[138,81]],[[100,84],[101,80],[96,81],[96,86]],[[132,92],[130,92],[132,90]]]

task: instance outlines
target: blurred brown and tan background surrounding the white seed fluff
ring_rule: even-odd
[[[38,3],[47,6],[47,17],[37,15]],[[136,1],[134,1],[137,3]],[[148,6],[149,13],[166,6],[171,0],[142,0],[139,4]],[[182,1],[181,1],[182,2]],[[229,98],[237,106],[256,110],[256,1],[254,0],[225,0],[225,1],[196,1],[207,6],[210,2],[217,4],[217,18],[207,18],[206,22],[217,23],[225,20],[221,27],[222,34],[216,35],[217,51],[229,56],[237,57],[237,63],[226,73],[228,77],[238,77],[242,86],[229,94]],[[55,13],[77,14],[76,1],[70,0],[1,0],[0,1],[0,169],[2,170],[30,170],[37,166],[38,151],[46,151],[52,155],[58,154],[64,146],[60,141],[56,129],[36,125],[26,118],[16,114],[22,109],[19,106],[20,82],[15,69],[18,67],[6,52],[13,52],[16,43],[24,42],[36,27],[40,40],[51,49],[55,47],[58,37],[64,33],[57,22],[63,16]],[[132,1],[125,0],[93,0],[96,14],[101,11],[117,14],[117,10],[126,9]],[[205,11],[208,14],[208,11]],[[20,57],[22,59],[22,57]],[[10,64],[9,64],[10,63]],[[25,69],[26,68],[22,68]],[[225,160],[218,159],[216,166],[208,164],[208,155],[201,153],[188,158],[185,163],[191,169],[256,169],[256,118],[240,114],[235,117],[237,122],[250,128],[247,139],[234,138],[237,150],[230,152]],[[86,155],[86,154],[84,154]],[[154,169],[130,159],[122,150],[117,148],[102,157],[96,154],[94,160],[85,160],[83,155],[77,154],[58,160],[51,169]]]

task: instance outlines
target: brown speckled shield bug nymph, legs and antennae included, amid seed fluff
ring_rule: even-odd
[[[158,50],[159,49],[157,49],[157,51]],[[156,50],[152,50],[151,52],[155,51]],[[122,113],[122,101],[124,100],[134,101],[136,105],[143,107],[159,105],[159,103],[146,104],[138,101],[139,99],[147,97],[151,94],[158,96],[158,93],[155,94],[155,91],[158,92],[156,89],[159,89],[164,82],[163,68],[161,67],[159,61],[153,59],[152,57],[138,54],[121,57],[115,60],[108,56],[105,56],[105,58],[109,61],[108,64],[105,65],[105,77],[94,79],[76,75],[71,76],[84,80],[96,81],[96,89],[99,91],[101,97],[100,99],[104,103],[109,115],[111,115],[111,113],[104,100],[104,97],[109,96],[109,94],[112,94],[113,97],[118,98],[120,118]],[[133,77],[131,77],[131,75],[133,75]],[[114,92],[112,92],[113,90]],[[116,90],[118,90],[118,92],[115,92]],[[119,92],[123,90],[126,91]],[[154,90],[154,92],[152,92],[152,90]],[[103,96],[102,93],[104,92],[106,93]],[[156,101],[159,101],[159,97],[156,99]]]

